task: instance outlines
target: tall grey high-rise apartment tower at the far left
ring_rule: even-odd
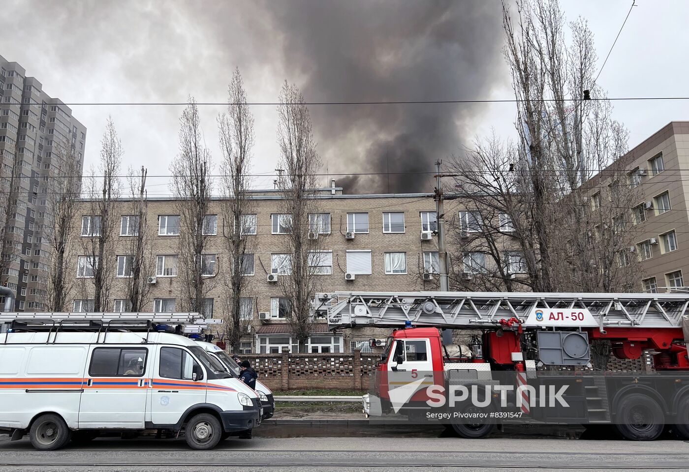
[[[81,175],[86,128],[61,100],[48,96],[18,63],[0,56],[0,190],[4,219],[10,205],[3,285],[16,290],[15,309],[43,309],[50,246],[43,232],[50,225],[50,180],[65,169]],[[67,153],[64,150],[68,150]],[[63,164],[65,154],[76,162]]]

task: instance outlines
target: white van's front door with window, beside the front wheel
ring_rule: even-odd
[[[203,378],[194,381],[194,371]],[[206,403],[205,372],[187,350],[161,346],[150,391],[153,427],[176,425],[189,407]]]

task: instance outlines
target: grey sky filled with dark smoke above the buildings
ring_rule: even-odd
[[[598,83],[611,97],[689,96],[689,2],[637,0]],[[562,0],[582,15],[602,64],[630,0]],[[234,67],[250,101],[274,102],[282,81],[307,101],[512,98],[500,52],[500,1],[32,1],[3,0],[0,54],[25,67],[45,92],[70,102],[226,100]],[[689,119],[686,100],[615,102],[630,147],[670,120]],[[88,127],[85,169],[98,159],[110,114],[125,149],[123,167],[169,174],[181,107],[74,106]],[[495,128],[514,136],[513,104],[312,106],[323,173],[432,171]],[[203,107],[216,162],[216,117]],[[276,109],[256,117],[253,173],[276,167]],[[340,183],[355,184],[336,176]],[[254,186],[271,186],[273,177]],[[323,178],[325,183],[326,178]],[[150,195],[167,195],[151,178]],[[415,175],[360,178],[369,192],[431,190]]]

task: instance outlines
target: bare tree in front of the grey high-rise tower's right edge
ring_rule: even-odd
[[[52,312],[70,311],[68,294],[74,286],[70,270],[74,261],[67,257],[70,237],[76,224],[81,200],[81,164],[74,149],[59,147],[52,151],[51,164],[61,169],[62,178],[51,179],[48,187],[43,235],[50,246],[50,275],[45,308]]]

